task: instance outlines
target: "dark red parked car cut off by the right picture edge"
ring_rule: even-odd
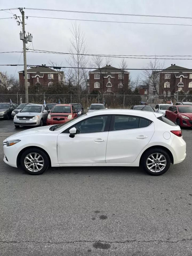
[[[176,105],[169,107],[165,117],[182,127],[192,127],[192,106]]]

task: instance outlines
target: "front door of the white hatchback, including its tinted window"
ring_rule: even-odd
[[[74,138],[69,137],[68,128],[58,135],[58,163],[65,164],[103,164],[105,163],[107,137],[111,116],[95,116],[71,126],[77,129]]]

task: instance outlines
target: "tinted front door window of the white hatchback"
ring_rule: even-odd
[[[102,132],[105,129],[107,116],[95,116],[78,123],[74,127],[77,133]]]

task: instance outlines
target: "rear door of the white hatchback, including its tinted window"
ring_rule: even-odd
[[[155,128],[152,121],[127,115],[112,116],[107,140],[106,163],[132,163],[149,143]]]

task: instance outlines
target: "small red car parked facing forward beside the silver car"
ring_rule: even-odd
[[[77,112],[71,104],[55,105],[47,116],[47,125],[63,124],[77,117]]]

